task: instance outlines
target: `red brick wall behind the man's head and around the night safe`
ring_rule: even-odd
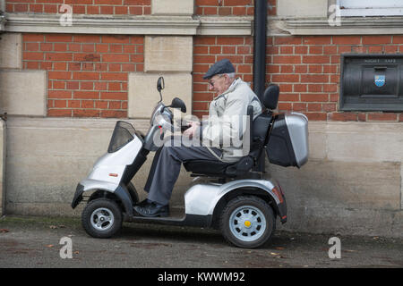
[[[401,113],[339,112],[339,61],[343,53],[402,53],[402,36],[269,37],[266,81],[279,84],[279,110],[304,113],[313,121],[403,122]],[[196,37],[193,109],[201,116],[212,99],[202,74],[227,57],[245,81],[252,81],[252,37]]]

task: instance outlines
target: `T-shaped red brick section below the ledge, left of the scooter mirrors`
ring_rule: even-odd
[[[24,69],[47,71],[47,115],[126,117],[130,71],[143,71],[143,37],[24,34]]]

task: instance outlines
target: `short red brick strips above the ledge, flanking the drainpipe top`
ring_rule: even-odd
[[[268,14],[276,14],[276,0],[268,0]],[[254,0],[195,0],[196,14],[205,16],[253,15]]]

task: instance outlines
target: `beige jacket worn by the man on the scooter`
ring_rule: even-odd
[[[202,145],[218,147],[224,162],[236,162],[249,154],[248,105],[253,105],[253,119],[262,114],[259,98],[239,78],[210,102],[209,118],[202,126]],[[211,149],[210,152],[217,156]]]

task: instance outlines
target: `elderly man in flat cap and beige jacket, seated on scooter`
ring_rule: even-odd
[[[235,68],[227,59],[214,63],[203,79],[209,80],[209,88],[217,93],[217,97],[210,102],[208,120],[202,124],[189,122],[189,128],[184,131],[184,137],[192,138],[201,134],[202,145],[186,147],[183,144],[180,146],[165,144],[159,149],[144,188],[148,192],[148,197],[134,206],[134,210],[141,216],[169,215],[169,199],[183,162],[189,160],[236,162],[246,155],[242,145],[244,134],[242,120],[247,114],[248,105],[253,105],[253,118],[262,113],[258,97],[248,84],[235,78]],[[231,142],[236,137],[241,139],[241,144],[234,146]]]

